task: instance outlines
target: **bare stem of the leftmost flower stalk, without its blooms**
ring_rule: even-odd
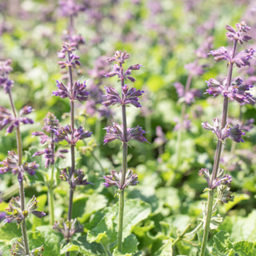
[[[14,118],[17,118],[16,110],[14,107],[14,102],[11,93],[9,92],[9,98],[10,98],[10,105],[14,113]],[[16,141],[17,141],[17,150],[18,150],[18,166],[22,165],[22,135],[21,131],[19,129],[19,126],[16,129]],[[19,196],[21,199],[21,210],[22,212],[25,210],[25,190],[24,190],[24,185],[23,185],[23,179],[19,183]],[[26,234],[26,220],[24,219],[21,224],[22,227],[22,238],[26,250],[26,254],[30,254],[30,249],[29,249],[29,242]]]

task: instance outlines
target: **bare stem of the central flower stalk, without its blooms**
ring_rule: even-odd
[[[122,69],[122,64],[120,64]],[[122,69],[123,72],[123,69]],[[122,86],[124,86],[124,80],[122,79]],[[124,96],[122,95],[122,98]],[[122,105],[122,125],[123,125],[123,135],[124,135],[124,143],[122,143],[122,179],[121,179],[121,187],[124,185],[126,181],[126,171],[127,171],[127,122],[126,122],[126,106]],[[122,250],[122,223],[123,223],[123,211],[125,205],[124,199],[124,189],[120,190],[119,194],[119,209],[118,209],[118,250]]]

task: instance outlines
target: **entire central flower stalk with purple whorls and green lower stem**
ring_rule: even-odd
[[[104,106],[113,106],[115,104],[122,106],[122,125],[113,123],[113,126],[106,127],[106,136],[104,144],[118,139],[122,142],[122,169],[120,172],[116,170],[111,171],[111,175],[104,176],[106,187],[118,186],[119,189],[119,207],[118,207],[118,250],[122,251],[122,225],[123,225],[123,213],[124,213],[124,190],[126,186],[137,185],[138,175],[133,174],[132,170],[128,170],[127,167],[127,152],[128,142],[132,139],[138,142],[145,142],[146,138],[143,136],[145,131],[141,127],[136,126],[134,128],[127,127],[126,120],[126,106],[133,105],[135,107],[142,107],[138,102],[138,97],[142,95],[144,91],[136,90],[133,87],[125,85],[125,81],[128,79],[130,82],[135,82],[135,79],[130,76],[132,70],[139,70],[142,65],[136,64],[130,66],[127,70],[124,70],[123,64],[130,55],[126,52],[117,50],[112,58],[108,58],[108,62],[115,62],[113,70],[106,74],[106,77],[118,76],[118,81],[121,83],[122,95],[120,97],[118,90],[114,87],[106,87],[106,101],[102,102]]]

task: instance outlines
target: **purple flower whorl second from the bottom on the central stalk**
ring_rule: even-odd
[[[127,128],[126,138],[123,134],[123,126],[114,122],[113,126],[107,126],[104,128],[106,130],[106,136],[104,138],[104,144],[112,142],[115,139],[120,140],[123,143],[127,143],[130,140],[134,139],[138,142],[146,142],[145,130],[142,130],[142,127],[136,126],[134,128]]]

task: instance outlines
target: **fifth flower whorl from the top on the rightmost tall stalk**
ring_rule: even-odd
[[[228,184],[230,185],[232,182],[232,177],[228,174],[223,175],[223,170],[220,169],[218,170],[218,175],[217,178],[214,178],[214,180],[211,180],[211,175],[210,175],[210,170],[206,169],[206,168],[202,168],[201,170],[199,170],[198,175],[202,178],[205,178],[208,186],[210,189],[214,189],[216,186],[220,186],[220,185],[225,185]]]

